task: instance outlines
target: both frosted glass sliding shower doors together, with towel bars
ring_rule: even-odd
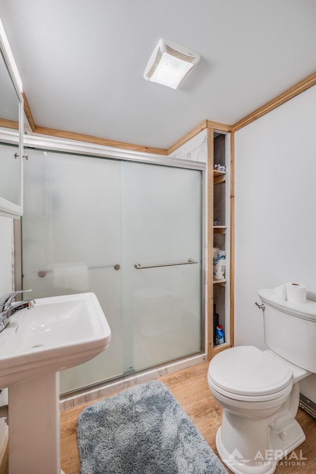
[[[202,170],[182,160],[28,155],[23,289],[33,298],[93,292],[112,330],[106,352],[60,373],[61,393],[199,353]]]

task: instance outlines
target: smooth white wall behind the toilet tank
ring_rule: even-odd
[[[266,347],[258,289],[296,281],[316,301],[315,104],[316,86],[235,135],[236,345]]]

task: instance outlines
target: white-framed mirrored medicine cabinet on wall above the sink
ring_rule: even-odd
[[[23,96],[0,32],[0,215],[23,214]]]

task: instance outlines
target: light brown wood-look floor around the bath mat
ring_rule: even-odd
[[[207,368],[208,362],[205,362],[171,375],[165,375],[159,380],[177,398],[217,454],[215,435],[221,425],[222,408],[209,391],[206,378]],[[77,420],[79,413],[88,404],[85,403],[61,413],[61,466],[65,474],[80,473]],[[316,420],[300,408],[296,418],[307,440],[295,449],[294,457],[279,462],[276,474],[316,474]],[[295,456],[300,458],[300,453],[301,457],[306,459],[295,459]]]

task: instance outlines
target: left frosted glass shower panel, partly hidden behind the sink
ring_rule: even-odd
[[[34,298],[93,292],[112,330],[108,351],[60,373],[63,393],[123,371],[122,277],[114,268],[122,265],[120,167],[41,150],[30,150],[25,166],[23,288]]]

